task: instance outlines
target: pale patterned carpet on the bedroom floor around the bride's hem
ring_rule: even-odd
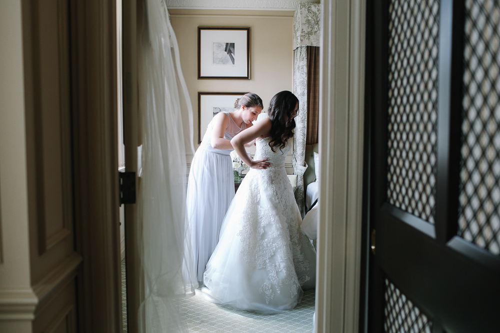
[[[121,262],[123,333],[127,332],[125,259]],[[310,333],[314,313],[314,290],[307,291],[295,309],[277,315],[258,315],[206,301],[199,289],[180,305],[187,329],[192,333]]]

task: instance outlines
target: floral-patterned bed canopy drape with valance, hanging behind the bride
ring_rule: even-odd
[[[295,200],[302,214],[305,215],[305,196],[303,174],[307,169],[305,158],[305,137],[307,130],[307,46],[319,46],[318,3],[301,2],[293,15],[293,92],[298,98],[299,112],[295,118],[293,136],[293,170],[297,175]]]

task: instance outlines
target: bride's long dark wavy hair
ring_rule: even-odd
[[[288,139],[293,136],[292,131],[295,128],[295,120],[291,114],[295,110],[297,103],[298,98],[288,90],[278,92],[269,102],[269,108],[267,109],[271,120],[269,147],[273,152],[275,152],[275,147],[279,148],[279,150],[286,147]]]

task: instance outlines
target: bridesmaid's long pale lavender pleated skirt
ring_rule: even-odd
[[[187,183],[186,213],[198,283],[218,242],[220,226],[234,197],[234,174],[229,155],[198,148]]]

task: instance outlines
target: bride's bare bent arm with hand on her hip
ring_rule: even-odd
[[[245,129],[244,131],[236,134],[232,140],[231,144],[234,147],[234,150],[241,158],[243,162],[245,162],[252,169],[265,169],[271,164],[267,161],[267,158],[259,161],[252,161],[248,155],[246,155],[246,151],[244,148],[245,142],[250,142],[258,137],[267,137],[269,136],[269,130],[271,129],[271,120],[269,118],[262,119],[255,123],[255,125],[250,128]]]

